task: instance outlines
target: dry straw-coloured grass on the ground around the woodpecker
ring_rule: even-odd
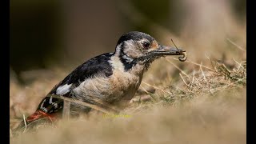
[[[166,57],[159,62],[174,66],[176,60]],[[246,61],[234,61],[232,70],[212,58],[209,61],[211,66],[187,61],[198,68],[186,71],[177,66],[178,80],[166,76],[159,83],[154,83],[146,75],[134,101],[122,111],[128,117],[92,114],[90,117],[43,123],[32,131],[23,131],[17,137],[11,137],[10,142],[246,142]],[[42,96],[48,92],[45,89],[50,90],[54,82],[42,78],[27,87],[11,82],[11,100],[16,100],[15,96],[22,97],[22,94],[27,97],[26,100],[32,98],[26,104],[10,104],[10,110],[13,110],[10,114],[14,114],[10,119],[11,134],[15,123],[23,118],[23,113],[18,110],[22,111],[23,108],[26,115],[32,113]]]

